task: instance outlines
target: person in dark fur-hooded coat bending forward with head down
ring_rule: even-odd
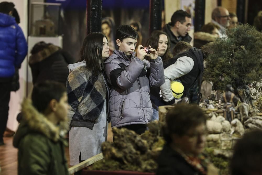
[[[74,58],[60,47],[43,41],[36,43],[29,58],[33,84],[53,80],[65,85],[69,75],[67,65],[74,62]]]

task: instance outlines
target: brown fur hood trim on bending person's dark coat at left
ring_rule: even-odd
[[[51,44],[48,47],[46,47],[45,49],[37,52],[36,54],[32,54],[29,57],[29,64],[31,65],[31,64],[43,61],[44,59],[46,59],[50,55],[54,54],[54,52],[60,49],[61,49],[60,47]]]

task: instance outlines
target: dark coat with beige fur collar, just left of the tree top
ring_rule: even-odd
[[[206,32],[194,33],[194,47],[201,49],[202,46],[209,42],[215,41],[217,36]]]

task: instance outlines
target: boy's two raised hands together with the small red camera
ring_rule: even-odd
[[[149,56],[151,60],[154,60],[158,57],[159,47],[156,50],[151,48],[151,46],[143,47],[142,45],[139,45],[138,48],[140,49],[137,50],[137,57],[142,61],[146,55]]]

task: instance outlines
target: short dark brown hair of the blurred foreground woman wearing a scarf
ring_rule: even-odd
[[[197,105],[177,104],[166,114],[166,123],[163,127],[164,139],[167,143],[171,143],[171,134],[183,136],[190,128],[202,123],[206,123],[206,115]]]

